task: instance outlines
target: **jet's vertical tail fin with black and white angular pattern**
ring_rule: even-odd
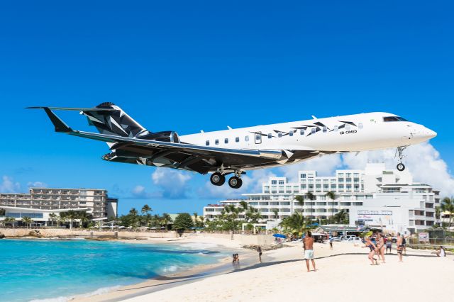
[[[93,110],[88,108],[88,110],[82,111],[82,114],[87,116],[89,125],[94,125],[102,134],[134,138],[149,133],[120,107],[109,102],[99,104]]]

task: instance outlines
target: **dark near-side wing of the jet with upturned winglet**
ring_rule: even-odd
[[[229,165],[229,162],[235,162],[236,169],[241,167],[253,166],[255,164],[272,164],[279,160],[287,160],[288,152],[284,150],[248,150],[248,149],[232,149],[218,148],[201,145],[192,145],[184,142],[165,142],[159,140],[144,140],[140,138],[131,138],[120,135],[110,135],[103,133],[90,133],[79,130],[72,130],[65,122],[53,113],[51,107],[33,107],[43,108],[48,114],[50,121],[55,126],[55,131],[66,133],[69,135],[79,136],[81,138],[89,138],[92,140],[100,140],[110,142],[111,149],[116,150],[118,154],[123,152],[123,157],[126,160],[118,160],[121,157],[118,154],[109,153],[104,155],[104,160],[131,162],[138,164],[147,164],[147,160],[157,160],[159,157],[165,157],[167,167],[177,169],[191,169],[196,172],[205,174],[210,171],[215,171],[220,164]],[[79,109],[79,108],[77,108]],[[74,108],[74,110],[77,110]],[[125,152],[126,150],[126,152]],[[124,156],[128,151],[132,150],[135,154],[133,160],[128,161],[131,156]],[[136,155],[136,154],[141,154]],[[137,157],[143,162],[137,162]]]

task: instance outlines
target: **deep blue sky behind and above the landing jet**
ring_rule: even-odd
[[[206,190],[206,176],[104,162],[104,143],[53,133],[43,112],[23,109],[104,101],[149,130],[180,134],[388,111],[438,132],[431,144],[450,174],[453,9],[451,1],[3,1],[0,188],[106,188],[121,213],[144,203],[201,213],[222,196]],[[77,113],[61,116],[94,130]]]

